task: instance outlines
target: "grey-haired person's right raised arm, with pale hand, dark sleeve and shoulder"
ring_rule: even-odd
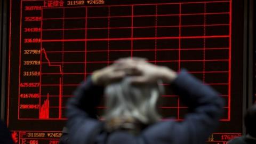
[[[154,82],[162,79],[170,83],[189,112],[182,122],[161,122],[150,126],[142,133],[148,143],[205,143],[217,127],[223,111],[223,100],[210,86],[182,70],[178,75],[167,67],[141,63],[143,75],[134,77],[134,83]]]

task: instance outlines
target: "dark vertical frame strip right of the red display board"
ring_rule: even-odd
[[[244,71],[243,71],[243,116],[246,110],[253,105],[255,94],[255,5],[253,0],[244,1]],[[246,127],[243,119],[243,134],[246,134]]]

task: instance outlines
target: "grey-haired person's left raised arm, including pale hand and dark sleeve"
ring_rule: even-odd
[[[119,61],[127,61],[125,65]],[[136,74],[134,60],[118,60],[113,65],[94,71],[91,77],[78,86],[74,97],[67,103],[67,127],[72,143],[90,143],[101,127],[96,118],[105,85],[122,79],[125,75]]]

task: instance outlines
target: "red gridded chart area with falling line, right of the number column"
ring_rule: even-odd
[[[212,4],[228,8],[213,11]],[[173,13],[166,7],[174,7]],[[222,121],[230,120],[230,1],[43,7],[41,14],[39,119],[65,119],[62,103],[94,70],[121,57],[146,57],[176,71],[185,67],[215,86],[227,100]],[[179,97],[166,95],[170,103],[160,108],[181,120],[186,107]],[[53,114],[48,117],[41,114],[47,105]]]

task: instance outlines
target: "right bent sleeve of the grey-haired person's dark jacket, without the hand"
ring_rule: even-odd
[[[178,133],[185,133],[187,143],[205,143],[211,132],[217,129],[223,113],[223,99],[207,84],[182,70],[173,81],[172,87],[188,106],[183,122],[174,126]]]

